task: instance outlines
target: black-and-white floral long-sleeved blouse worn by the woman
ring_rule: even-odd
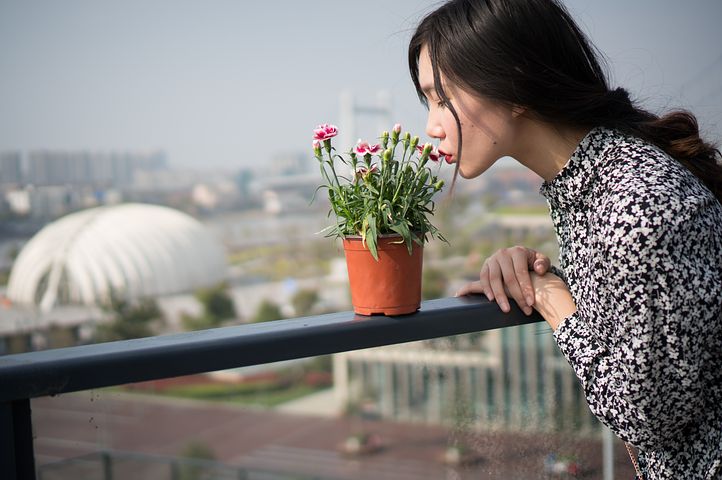
[[[591,130],[541,187],[577,312],[554,332],[649,479],[722,478],[722,206],[638,138]]]

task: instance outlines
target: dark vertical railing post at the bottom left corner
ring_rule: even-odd
[[[29,398],[0,402],[0,477],[35,478]]]

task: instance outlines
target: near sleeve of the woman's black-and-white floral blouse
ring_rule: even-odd
[[[602,209],[597,310],[574,313],[554,332],[592,412],[642,449],[669,445],[694,428],[720,354],[708,339],[722,335],[712,208],[660,205],[641,198]],[[609,325],[611,335],[599,338],[595,322]]]

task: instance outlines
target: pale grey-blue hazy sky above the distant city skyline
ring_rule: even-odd
[[[308,151],[343,90],[368,104],[389,91],[422,134],[406,45],[436,3],[0,0],[0,150],[162,148],[175,166],[237,168]],[[691,108],[722,138],[722,1],[566,5],[612,85]]]

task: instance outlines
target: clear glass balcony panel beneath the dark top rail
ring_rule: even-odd
[[[48,479],[603,477],[542,324],[32,401]],[[614,441],[614,478],[633,471]]]

